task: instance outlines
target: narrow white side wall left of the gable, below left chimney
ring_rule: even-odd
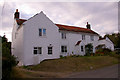
[[[23,27],[18,29],[16,21],[12,31],[12,54],[17,57],[19,62],[23,63]]]

